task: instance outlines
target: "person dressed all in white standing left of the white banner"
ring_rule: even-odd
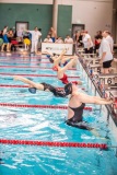
[[[42,33],[38,31],[38,27],[36,26],[34,31],[27,31],[32,34],[32,48],[31,52],[37,52],[37,46],[38,46],[38,38],[42,36]]]

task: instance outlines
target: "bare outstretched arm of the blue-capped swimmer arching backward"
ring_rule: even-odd
[[[22,81],[23,83],[26,83],[30,85],[30,88],[36,88],[37,90],[40,90],[40,91],[44,91],[44,85],[43,84],[39,84],[39,83],[35,83],[26,78],[23,78],[21,75],[14,75],[13,77],[14,80],[17,80],[17,81]]]

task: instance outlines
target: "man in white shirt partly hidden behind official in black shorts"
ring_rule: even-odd
[[[112,50],[112,54],[114,52],[114,39],[113,37],[110,36],[110,33],[108,31],[104,31],[103,33],[103,36],[107,39],[107,42],[109,43],[109,46],[110,46],[110,50]]]

